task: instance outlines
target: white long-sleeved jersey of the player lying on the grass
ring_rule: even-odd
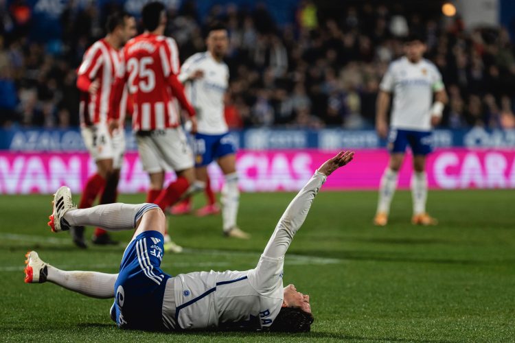
[[[173,287],[167,284],[163,298],[165,327],[270,327],[281,310],[284,298],[284,256],[326,178],[315,171],[297,193],[275,226],[254,269],[192,272],[168,279],[168,283],[173,281]]]

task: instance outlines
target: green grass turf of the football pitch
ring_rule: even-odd
[[[165,255],[170,274],[253,268],[291,193],[243,194],[240,226],[251,241],[225,239],[220,217],[172,217],[174,239],[187,248]],[[116,272],[124,247],[77,250],[66,233],[45,227],[46,196],[0,198],[0,340],[186,342],[330,340],[508,342],[515,340],[513,191],[433,191],[441,224],[409,224],[409,192],[398,192],[390,225],[371,217],[375,192],[324,192],[286,257],[285,283],[310,294],[315,322],[304,335],[144,333],[121,331],[111,300],[56,285],[25,285],[23,255],[35,249],[57,267]],[[141,202],[144,196],[122,196]],[[202,197],[196,201],[203,201]],[[88,235],[91,230],[88,231]],[[127,241],[130,233],[115,237]]]

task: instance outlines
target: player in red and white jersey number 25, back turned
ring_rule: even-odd
[[[139,158],[150,176],[147,202],[157,204],[163,212],[177,202],[191,186],[195,171],[193,154],[180,126],[179,100],[196,131],[195,111],[187,101],[184,88],[177,80],[179,51],[173,38],[163,36],[166,27],[165,7],[152,2],[144,6],[141,19],[144,34],[131,39],[124,47],[117,72],[111,104],[111,120],[119,118],[119,104],[125,84],[133,96],[133,130]],[[171,167],[177,179],[163,189],[165,166]],[[165,235],[165,249],[180,251],[170,236]]]

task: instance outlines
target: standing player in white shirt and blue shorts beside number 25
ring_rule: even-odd
[[[229,237],[248,239],[249,234],[240,230],[236,224],[240,204],[236,147],[224,117],[224,98],[229,84],[229,67],[223,62],[229,45],[225,26],[211,25],[207,31],[206,45],[207,51],[185,60],[179,74],[198,121],[194,138],[196,179],[205,185],[208,180],[207,166],[216,160],[225,176],[221,199],[223,233]],[[190,202],[191,198],[188,198],[181,203],[176,213],[189,212]],[[216,211],[213,207],[216,205],[208,206],[211,209],[203,209],[203,213]]]

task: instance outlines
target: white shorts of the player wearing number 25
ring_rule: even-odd
[[[136,132],[139,158],[148,173],[166,169],[181,171],[194,165],[193,153],[183,128]]]

